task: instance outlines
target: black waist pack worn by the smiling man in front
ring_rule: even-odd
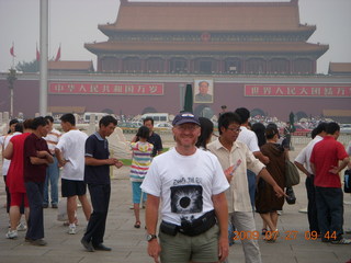
[[[181,232],[189,237],[195,237],[206,232],[215,224],[216,224],[215,210],[211,210],[205,213],[201,217],[194,219],[193,221],[188,221],[185,219],[182,219],[181,226],[162,221],[160,225],[160,231],[170,236],[176,236],[177,232]]]

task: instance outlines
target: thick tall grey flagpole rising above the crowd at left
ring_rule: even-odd
[[[41,0],[41,89],[39,89],[39,114],[47,113],[47,50],[48,50],[48,0]]]

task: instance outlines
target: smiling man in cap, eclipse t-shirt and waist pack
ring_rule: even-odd
[[[192,113],[173,121],[176,147],[157,156],[141,184],[148,194],[148,254],[161,262],[223,262],[228,255],[229,187],[217,158],[195,147],[201,128]],[[158,243],[156,226],[161,204]],[[218,221],[218,225],[216,224]],[[218,229],[219,226],[219,229]]]

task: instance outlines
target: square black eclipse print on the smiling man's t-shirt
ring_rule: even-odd
[[[171,211],[177,214],[200,213],[203,209],[201,185],[178,185],[171,187]]]

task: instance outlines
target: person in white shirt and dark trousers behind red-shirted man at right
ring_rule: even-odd
[[[316,190],[315,190],[315,175],[310,168],[310,155],[314,146],[322,140],[322,137],[327,135],[326,133],[327,123],[320,123],[314,130],[313,130],[313,140],[308,142],[308,145],[297,155],[295,158],[295,165],[299,171],[306,174],[306,191],[307,191],[307,216],[308,216],[308,224],[309,224],[309,231],[316,231],[320,233],[318,227],[318,218],[317,218],[317,206],[316,206]]]

